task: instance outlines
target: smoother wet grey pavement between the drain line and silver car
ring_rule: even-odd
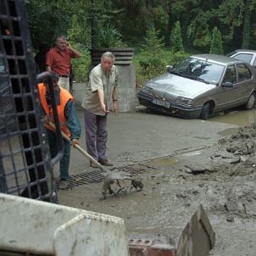
[[[86,149],[83,112],[79,110],[78,114],[82,125],[80,145]],[[184,120],[147,114],[145,109],[118,116],[109,114],[107,153],[109,160],[119,167],[207,147],[225,131],[237,127],[211,120]],[[70,175],[89,169],[86,157],[73,149]]]

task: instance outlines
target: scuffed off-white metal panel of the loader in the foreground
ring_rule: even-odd
[[[1,252],[128,256],[118,217],[0,193]]]

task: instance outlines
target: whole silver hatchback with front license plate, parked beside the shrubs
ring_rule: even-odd
[[[236,58],[193,55],[175,67],[168,67],[168,73],[147,81],[138,100],[148,109],[203,120],[214,112],[240,105],[253,109],[255,71]]]

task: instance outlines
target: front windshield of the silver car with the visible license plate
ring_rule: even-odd
[[[224,69],[224,65],[215,64],[208,60],[186,58],[181,64],[173,67],[170,73],[216,85],[220,82]]]

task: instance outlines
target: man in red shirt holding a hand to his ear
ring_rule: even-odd
[[[58,36],[55,47],[47,53],[47,71],[58,75],[58,86],[70,91],[71,58],[81,58],[81,53],[70,47],[64,36]]]

